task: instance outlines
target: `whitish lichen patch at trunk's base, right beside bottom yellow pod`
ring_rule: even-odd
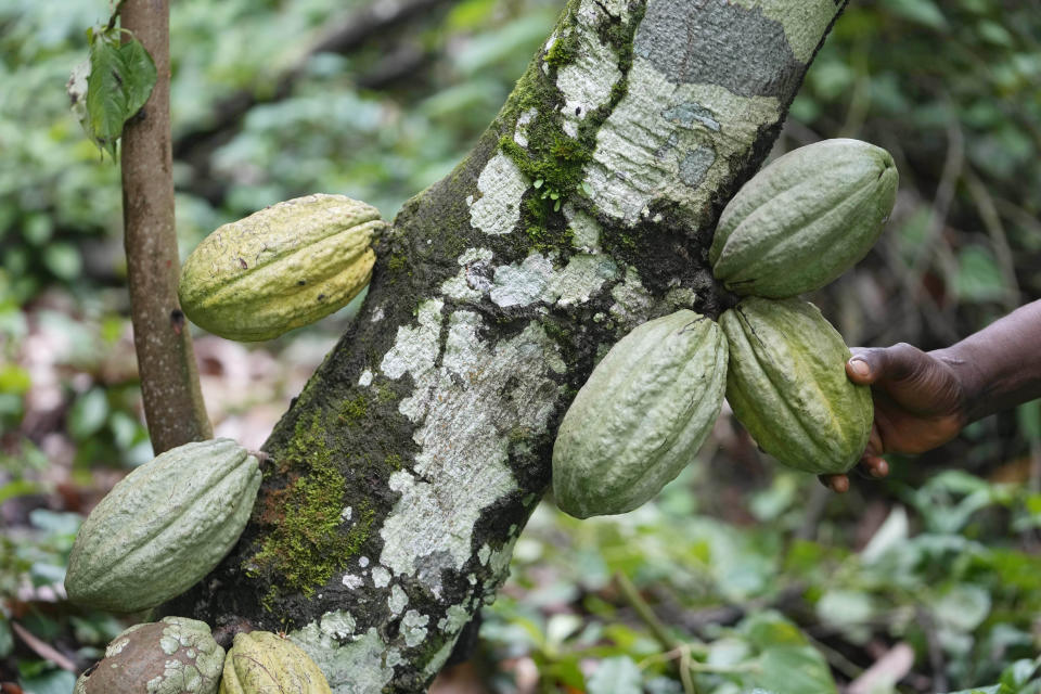
[[[329,680],[334,694],[380,692],[394,678],[394,668],[385,664],[389,656],[374,627],[354,641],[339,643],[331,634],[311,622],[290,634],[290,639],[305,652]]]

